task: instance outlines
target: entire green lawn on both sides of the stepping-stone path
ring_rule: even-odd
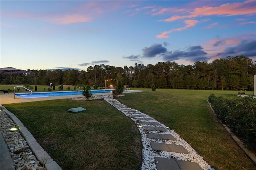
[[[232,96],[238,91],[156,89],[116,99],[175,130],[213,168],[256,169],[211,112],[207,103],[211,93]],[[136,126],[103,100],[62,99],[4,106],[63,169],[140,168],[142,146]],[[68,113],[72,107],[87,111]]]

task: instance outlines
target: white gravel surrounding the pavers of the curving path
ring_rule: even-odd
[[[174,158],[177,160],[185,160],[185,161],[190,161],[190,162],[196,162],[199,164],[199,166],[203,170],[214,170],[211,168],[211,166],[204,160],[202,156],[200,156],[194,148],[188,144],[184,139],[180,137],[179,134],[177,134],[174,130],[170,130],[167,128],[164,124],[156,121],[156,119],[149,117],[148,115],[141,113],[140,111],[137,111],[135,109],[131,109],[117,101],[116,99],[112,99],[110,97],[103,97],[105,101],[110,103],[110,105],[113,105],[116,109],[124,113],[127,117],[132,119],[141,134],[141,141],[142,141],[142,166],[141,170],[152,170],[156,169],[156,164],[155,164],[155,159],[154,157],[161,157],[161,158]],[[156,122],[159,123],[160,125],[142,125],[138,119],[135,117],[131,117],[132,115],[143,115],[144,117],[140,118],[151,118],[152,120],[144,121],[144,122]],[[155,131],[149,131],[145,130],[142,126],[151,126],[151,127],[163,127],[166,128],[166,132],[159,132],[159,134],[171,134],[176,138],[177,140],[160,140],[160,139],[151,139],[148,138],[147,134],[150,133],[157,133]],[[158,150],[152,150],[150,142],[156,142],[156,143],[166,143],[166,144],[175,144],[175,145],[182,145],[188,152],[189,154],[182,154],[182,153],[176,153],[176,152],[166,152],[166,151],[158,151]]]

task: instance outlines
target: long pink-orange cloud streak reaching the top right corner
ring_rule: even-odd
[[[184,19],[184,18],[194,18],[197,16],[237,16],[237,15],[252,15],[256,13],[255,1],[244,1],[244,2],[234,2],[222,4],[217,7],[207,7],[195,8],[188,15],[184,16],[172,16],[168,19],[161,20],[164,22],[171,22],[174,20]]]

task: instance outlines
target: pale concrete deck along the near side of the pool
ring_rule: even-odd
[[[124,91],[123,94],[126,93],[136,93],[142,92],[142,90],[130,90]],[[111,95],[112,93],[95,93],[93,96],[102,96],[102,95]],[[11,104],[11,103],[24,103],[24,102],[33,102],[33,101],[46,101],[46,100],[57,100],[57,99],[71,99],[76,97],[83,97],[83,95],[68,95],[68,96],[56,96],[56,97],[38,97],[38,98],[17,98],[13,93],[1,93],[0,94],[0,104]]]

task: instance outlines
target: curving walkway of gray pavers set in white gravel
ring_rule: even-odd
[[[116,99],[112,99],[108,96],[104,96],[103,99],[110,103],[110,105],[114,106],[116,109],[124,113],[130,119],[132,119],[140,129],[140,133],[143,136],[146,132],[146,140],[154,141],[150,142],[150,145],[144,145],[145,141],[142,141],[143,149],[150,148],[153,152],[157,153],[160,151],[166,151],[169,153],[180,153],[183,155],[189,155],[191,153],[191,148],[184,148],[182,145],[175,144],[177,138],[175,138],[172,134],[164,134],[164,132],[169,132],[170,129],[165,125],[157,122],[154,118],[149,117],[148,115],[141,113],[140,111],[136,111],[129,107],[126,107]],[[174,144],[168,144],[168,141],[174,141]],[[189,147],[188,147],[189,148]],[[210,169],[210,165],[208,165],[204,160],[199,160],[201,167],[197,161],[194,162],[185,161],[185,160],[177,160],[173,158],[164,158],[161,157],[161,154],[155,154],[154,158],[150,158],[147,155],[143,155],[144,153],[148,154],[148,152],[142,152],[142,169],[152,169],[154,165],[146,166],[146,162],[152,162],[154,160],[155,168],[157,170],[202,170],[202,169]],[[173,154],[175,155],[175,154]],[[198,155],[199,156],[199,155]],[[167,156],[168,157],[168,156]],[[171,156],[172,157],[172,156]],[[196,157],[196,156],[195,156]],[[199,156],[200,157],[200,156]],[[150,160],[151,159],[151,160]]]

